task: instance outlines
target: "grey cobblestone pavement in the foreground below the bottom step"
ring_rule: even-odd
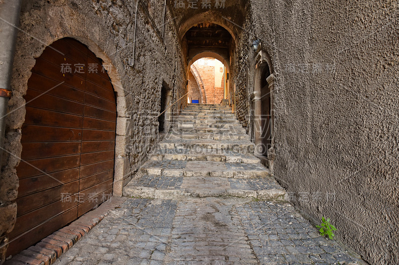
[[[362,264],[288,203],[130,198],[57,265]]]

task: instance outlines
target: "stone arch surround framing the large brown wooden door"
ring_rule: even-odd
[[[21,107],[25,103],[23,95],[27,91],[27,81],[31,75],[30,71],[35,65],[35,58],[38,58],[44,49],[53,42],[62,38],[74,38],[85,44],[98,58],[103,61],[105,70],[107,70],[111,83],[116,92],[117,102],[117,128],[115,143],[115,166],[114,166],[114,184],[113,194],[115,196],[122,195],[124,176],[129,174],[129,162],[126,157],[127,130],[129,129],[129,114],[127,111],[127,103],[131,101],[132,95],[127,93],[123,87],[124,64],[121,58],[117,56],[117,47],[114,42],[115,37],[110,33],[99,35],[93,32],[95,29],[90,27],[90,23],[96,24],[97,21],[88,21],[91,18],[79,16],[76,12],[66,6],[51,6],[51,10],[43,11],[43,19],[41,23],[35,24],[29,29],[30,35],[40,36],[40,40],[30,38],[28,35],[18,34],[16,53],[14,60],[14,70],[12,73],[11,87],[13,96],[10,98],[11,104],[7,117],[6,126],[13,130],[19,130],[24,122],[25,107]],[[62,13],[65,17],[71,17],[68,21],[57,22],[50,14]],[[69,14],[75,14],[75,17]],[[95,19],[94,19],[95,20]],[[85,21],[82,25],[81,21]],[[68,24],[68,27],[65,27]],[[87,25],[87,26],[84,26]],[[23,28],[23,25],[21,26]],[[21,118],[22,117],[22,118]],[[18,184],[15,173],[11,170],[20,162],[21,143],[19,136],[6,136],[8,150],[16,150],[15,156],[8,155],[6,169],[11,178],[16,179],[16,187]],[[16,192],[15,187],[15,192]]]

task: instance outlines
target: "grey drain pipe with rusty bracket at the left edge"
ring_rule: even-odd
[[[0,164],[4,145],[5,116],[11,97],[12,64],[22,0],[0,0]]]

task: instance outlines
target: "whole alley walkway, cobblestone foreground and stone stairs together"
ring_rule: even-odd
[[[229,107],[190,104],[158,147],[55,264],[362,264],[287,202]]]

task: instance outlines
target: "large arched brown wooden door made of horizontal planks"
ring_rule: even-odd
[[[13,255],[112,194],[116,101],[108,74],[85,45],[60,39],[36,59],[22,126]]]

